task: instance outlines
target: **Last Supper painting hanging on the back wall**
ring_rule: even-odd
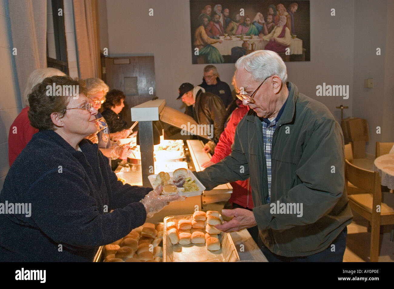
[[[235,63],[256,50],[310,61],[309,1],[190,0],[192,63]]]

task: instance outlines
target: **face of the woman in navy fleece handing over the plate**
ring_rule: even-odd
[[[84,94],[80,94],[78,99],[71,98],[67,105],[66,113],[63,116],[64,126],[62,129],[68,134],[80,135],[82,138],[97,131],[96,109],[88,111],[77,109],[89,105],[89,100]]]

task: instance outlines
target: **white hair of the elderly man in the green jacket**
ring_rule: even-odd
[[[257,50],[240,57],[235,68],[245,69],[256,81],[263,81],[269,76],[278,75],[286,85],[287,69],[278,53],[271,50]]]

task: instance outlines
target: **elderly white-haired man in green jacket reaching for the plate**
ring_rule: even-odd
[[[268,261],[342,261],[351,213],[344,177],[344,139],[325,105],[286,86],[287,70],[275,52],[238,59],[236,84],[250,110],[236,129],[232,153],[196,172],[211,190],[250,178],[253,211],[234,216],[219,230],[257,225]]]

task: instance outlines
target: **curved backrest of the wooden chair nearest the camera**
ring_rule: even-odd
[[[379,172],[362,169],[345,159],[345,178],[357,188],[374,195],[374,205],[380,204],[382,191]],[[347,184],[347,182],[346,182]]]

